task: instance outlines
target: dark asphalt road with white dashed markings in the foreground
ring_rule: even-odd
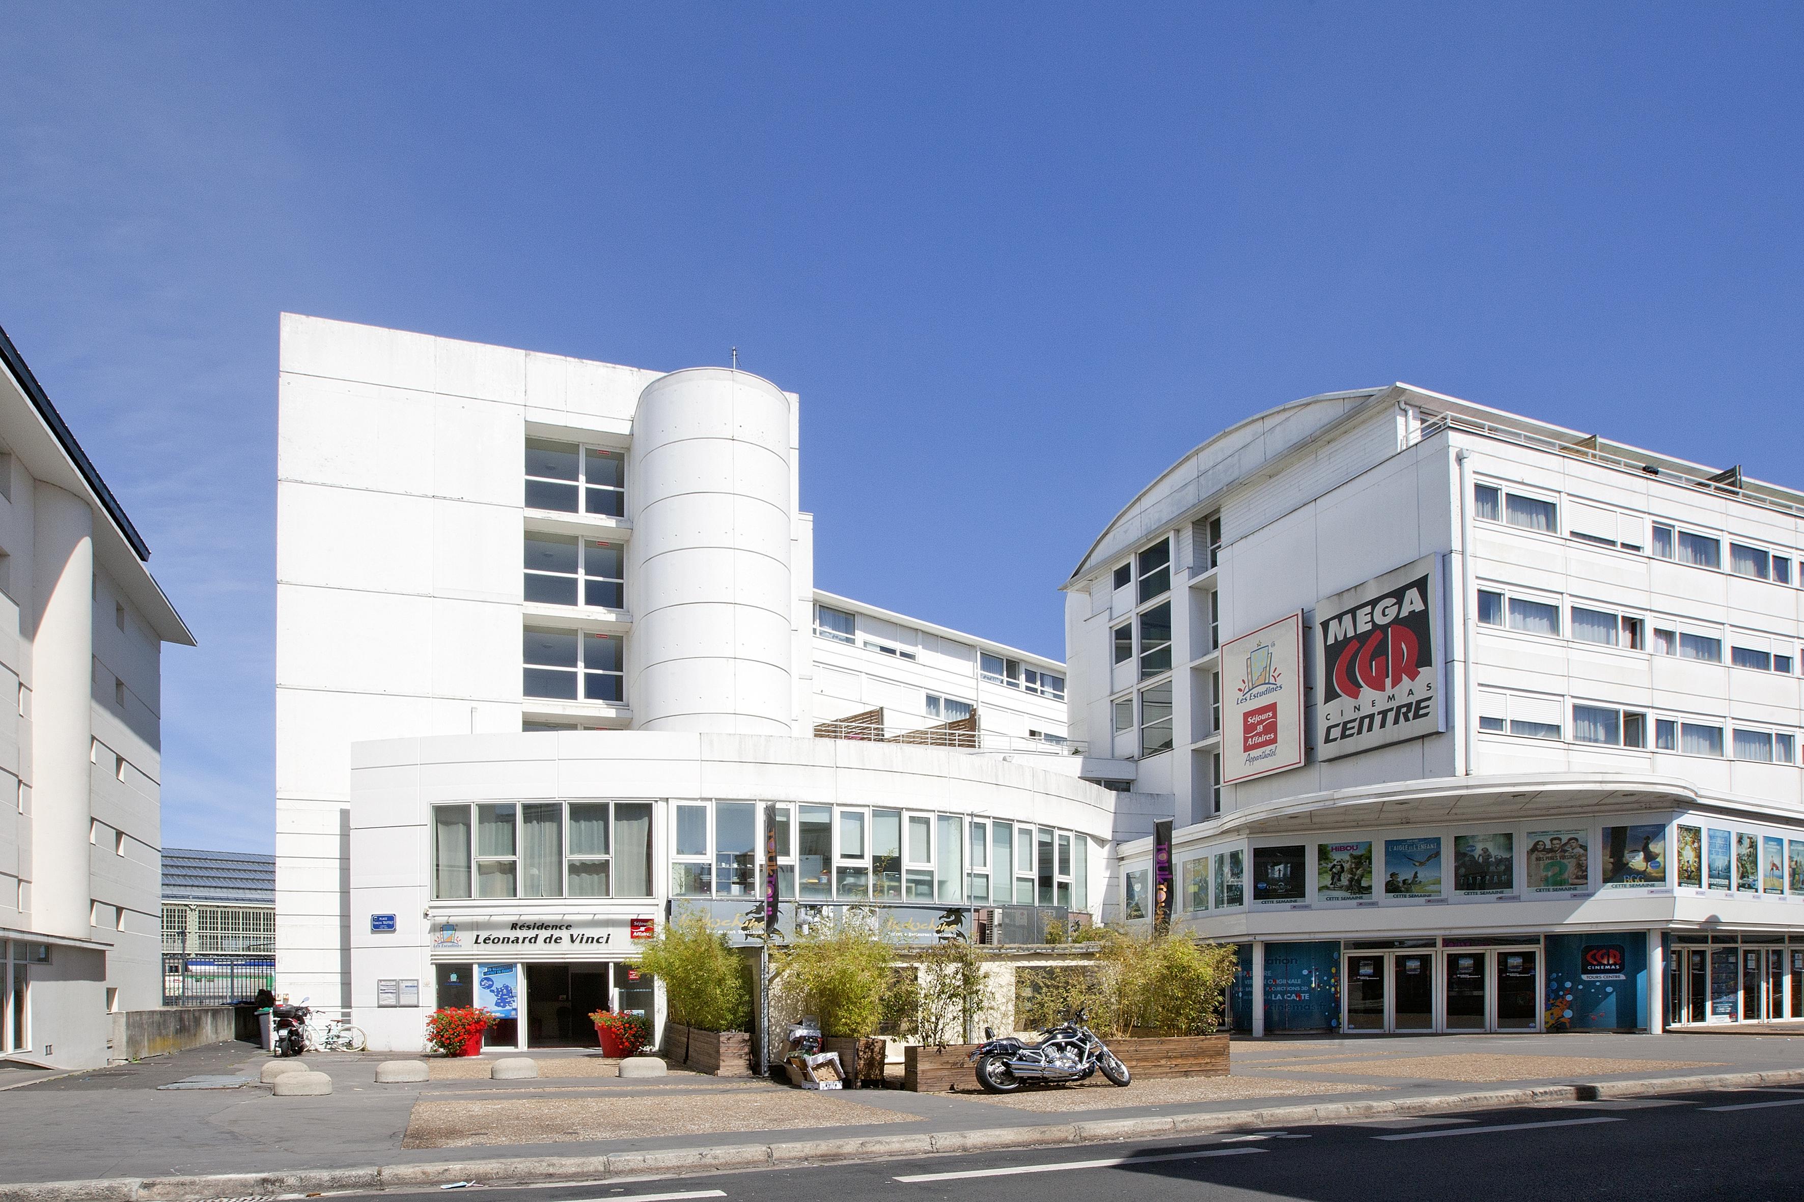
[[[1804,1090],[1622,1099],[1189,1141],[473,1188],[492,1202],[1429,1202],[1804,1197]],[[415,1195],[364,1195],[397,1202]]]

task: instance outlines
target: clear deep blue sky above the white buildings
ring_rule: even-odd
[[[0,0],[0,324],[272,843],[276,315],[803,396],[817,582],[1061,654],[1210,433],[1409,380],[1804,485],[1797,5]]]

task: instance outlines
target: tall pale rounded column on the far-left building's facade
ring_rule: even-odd
[[[32,496],[31,905],[32,926],[87,939],[94,696],[94,512],[38,483]]]

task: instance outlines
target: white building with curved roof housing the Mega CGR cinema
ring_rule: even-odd
[[[1104,917],[1266,1031],[1804,1015],[1804,494],[1393,386],[1185,454],[1066,582]],[[1162,840],[1160,840],[1162,842]]]

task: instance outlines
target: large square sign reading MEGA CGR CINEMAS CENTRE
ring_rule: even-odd
[[[1315,757],[1447,728],[1441,564],[1423,555],[1315,604]]]

